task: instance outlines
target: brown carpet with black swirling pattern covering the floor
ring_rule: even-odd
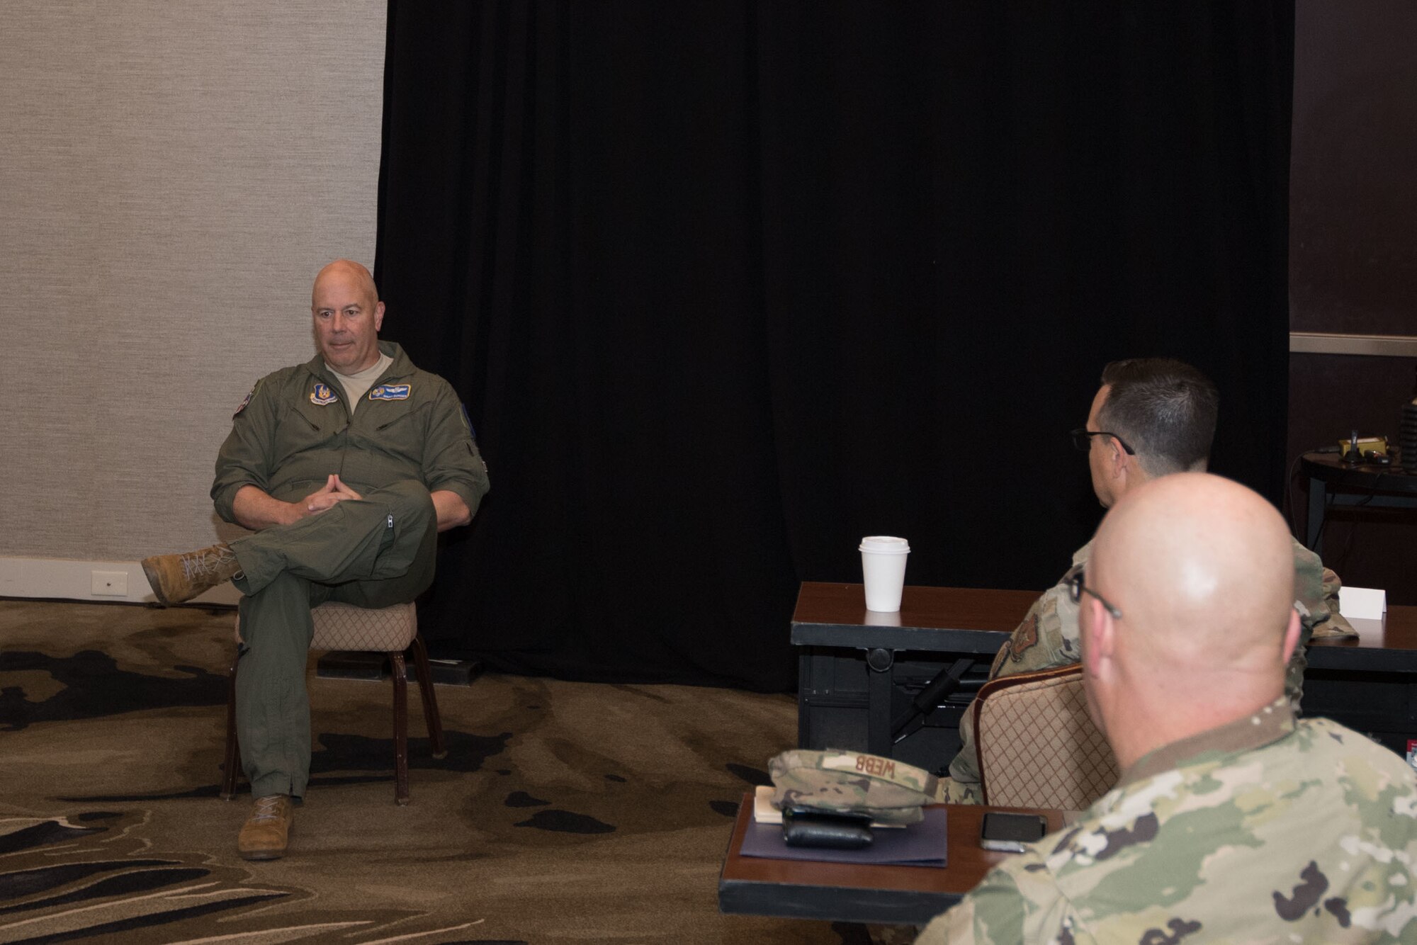
[[[718,914],[789,696],[483,676],[438,687],[435,761],[411,687],[398,808],[391,687],[312,669],[290,854],[247,863],[230,657],[230,612],[0,601],[0,942],[866,942]]]

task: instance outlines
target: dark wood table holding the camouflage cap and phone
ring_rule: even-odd
[[[752,822],[752,795],[744,795],[718,874],[718,910],[741,915],[778,915],[833,922],[924,925],[978,885],[1007,853],[979,847],[983,808],[945,805],[948,866],[857,866],[743,856],[743,836]],[[1063,827],[1060,810],[1029,810]]]

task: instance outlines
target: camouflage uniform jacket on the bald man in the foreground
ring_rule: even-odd
[[[1417,772],[1288,700],[1138,761],[917,942],[1414,942]]]

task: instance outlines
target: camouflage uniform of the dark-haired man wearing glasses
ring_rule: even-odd
[[[993,657],[989,679],[1036,673],[1068,666],[1083,659],[1077,629],[1077,604],[1073,602],[1068,592],[1068,579],[1078,568],[1087,565],[1091,550],[1093,543],[1088,541],[1074,551],[1073,567],[1068,568],[1067,574],[1033,602],[1033,606],[1023,616],[1023,622],[1009,636],[1009,642]],[[1299,697],[1304,694],[1304,667],[1308,664],[1304,657],[1304,646],[1314,635],[1314,628],[1331,625],[1349,632],[1353,629],[1338,612],[1340,587],[1338,575],[1325,568],[1316,554],[1294,541],[1294,606],[1299,612],[1304,630],[1299,636],[1299,646],[1294,649],[1294,656],[1289,659],[1284,691],[1295,708],[1298,708]],[[973,703],[965,708],[965,714],[959,720],[959,754],[949,762],[949,776],[939,781],[938,798],[949,803],[981,803],[979,761],[975,757],[973,742]]]

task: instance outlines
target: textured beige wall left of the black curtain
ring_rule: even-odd
[[[252,381],[310,279],[373,265],[384,0],[10,0],[0,26],[0,557],[218,534]]]

